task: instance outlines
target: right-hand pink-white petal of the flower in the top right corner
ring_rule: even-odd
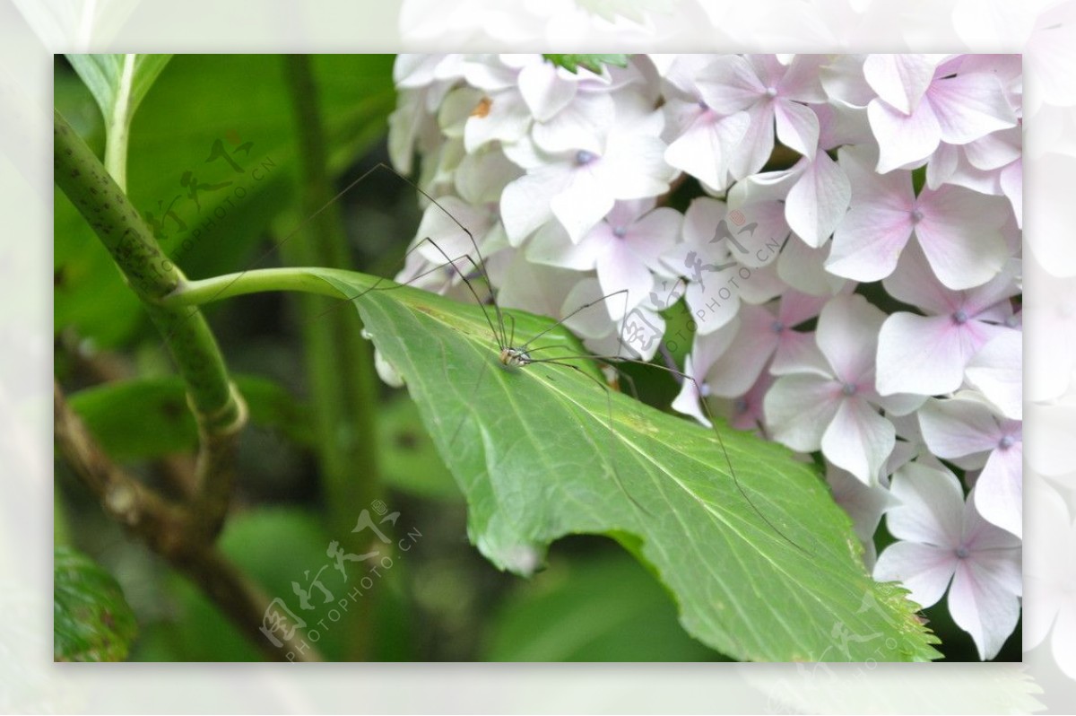
[[[1001,83],[990,74],[935,80],[926,97],[934,108],[942,139],[950,144],[966,144],[992,131],[1016,126],[1016,115]]]

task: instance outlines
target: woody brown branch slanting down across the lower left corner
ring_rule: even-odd
[[[213,545],[203,519],[196,517],[197,504],[188,508],[170,503],[113,463],[55,381],[53,412],[60,453],[109,515],[201,588],[268,658],[322,660],[295,630],[275,634],[280,647],[267,638],[260,628],[272,602]]]

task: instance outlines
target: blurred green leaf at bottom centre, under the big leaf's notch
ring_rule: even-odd
[[[491,661],[708,661],[661,585],[626,554],[553,560],[490,627]]]

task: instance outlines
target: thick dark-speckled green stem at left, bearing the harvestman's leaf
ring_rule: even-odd
[[[157,245],[127,196],[67,121],[54,112],[56,184],[94,228],[164,336],[187,388],[199,427],[198,494],[192,525],[212,539],[224,522],[235,482],[235,451],[246,407],[228,376],[224,356],[197,309],[159,300],[184,282],[183,273]]]

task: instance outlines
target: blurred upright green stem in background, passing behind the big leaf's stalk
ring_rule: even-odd
[[[281,251],[287,264],[343,267],[349,257],[340,212],[334,206],[322,211],[330,203],[334,191],[310,58],[287,55],[284,72],[299,139],[302,213],[313,219]],[[381,495],[373,354],[369,341],[362,337],[363,324],[355,311],[329,310],[332,301],[309,295],[300,297],[299,306],[328,528],[348,551],[367,552],[370,545],[351,530],[358,514]],[[370,658],[370,612],[366,608],[348,613],[350,660]]]

